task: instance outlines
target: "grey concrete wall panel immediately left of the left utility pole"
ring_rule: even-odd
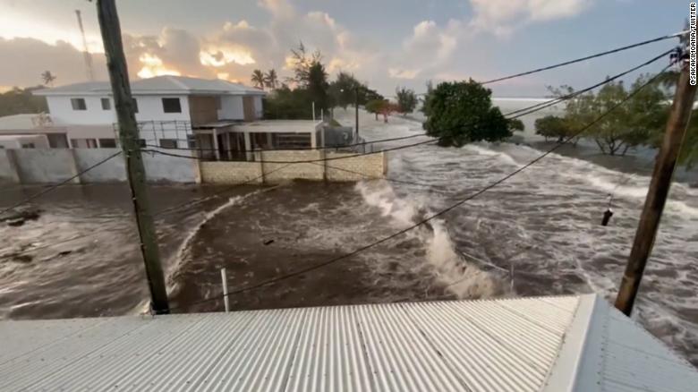
[[[90,166],[112,156],[120,149],[73,149],[75,164],[78,172],[87,170]],[[99,165],[80,176],[81,183],[110,183],[126,181],[126,164],[123,156],[109,159],[104,165]]]

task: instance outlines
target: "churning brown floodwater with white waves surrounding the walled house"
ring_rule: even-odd
[[[362,118],[369,140],[420,124]],[[540,141],[532,141],[535,143]],[[649,183],[646,158],[583,145],[551,154],[481,197],[395,239],[307,273],[420,221],[515,170],[540,149],[425,145],[389,156],[398,182],[276,186],[152,185],[175,311],[222,311],[220,268],[235,310],[344,303],[596,292],[612,299]],[[331,163],[328,163],[331,165]],[[40,187],[0,190],[0,206]],[[600,219],[614,195],[609,226]],[[123,184],[66,186],[32,203],[40,217],[0,225],[0,318],[138,313],[149,297]],[[672,188],[634,317],[698,363],[698,189]],[[513,271],[513,274],[512,274]]]

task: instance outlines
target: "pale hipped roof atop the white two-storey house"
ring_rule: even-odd
[[[39,96],[65,95],[111,95],[111,86],[107,81],[88,81],[68,84],[51,89],[38,89],[33,92]],[[241,83],[221,79],[199,79],[186,76],[156,76],[131,82],[133,95],[265,95],[266,92]]]

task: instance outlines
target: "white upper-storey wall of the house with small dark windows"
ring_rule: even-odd
[[[87,110],[72,110],[71,98],[84,98]],[[115,124],[114,99],[109,98],[111,108],[102,109],[99,96],[60,96],[47,97],[48,111],[55,125],[96,125]],[[191,121],[189,99],[186,96],[134,96],[138,101],[137,121]],[[165,113],[162,98],[179,98],[182,113]]]

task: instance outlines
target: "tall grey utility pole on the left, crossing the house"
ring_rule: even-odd
[[[97,0],[99,29],[106,53],[106,66],[114,94],[114,107],[119,122],[119,141],[126,157],[126,174],[131,188],[133,209],[140,236],[140,252],[145,263],[150,289],[152,310],[156,314],[170,312],[167,303],[165,274],[160,265],[157,236],[150,215],[146,175],[143,158],[140,156],[139,130],[134,114],[131,84],[129,83],[126,57],[123,55],[121,26],[116,13],[115,0]]]

